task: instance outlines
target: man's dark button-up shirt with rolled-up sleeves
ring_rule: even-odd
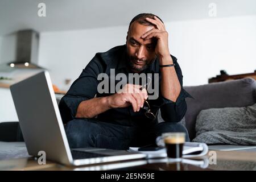
[[[159,96],[156,100],[148,101],[151,111],[156,114],[160,109],[164,121],[179,122],[184,117],[187,110],[185,98],[191,96],[182,88],[183,76],[176,57],[172,55],[171,57],[174,61],[175,71],[181,85],[181,92],[176,102],[164,98],[161,94],[161,73],[159,69],[159,60],[157,58],[143,71],[143,73],[152,73],[152,75],[154,75],[154,73],[159,73]],[[132,72],[127,67],[127,61],[126,45],[114,47],[104,53],[96,53],[89,64],[86,65],[85,69],[83,69],[79,78],[73,82],[67,94],[61,98],[59,109],[63,122],[67,123],[72,119],[76,119],[75,115],[80,102],[90,100],[95,96],[109,96],[111,93],[98,93],[97,86],[100,83],[100,80],[97,80],[98,75],[100,73],[110,75],[110,69],[115,69],[115,75],[124,73],[128,76],[128,74]],[[152,76],[152,82],[154,82],[154,76]],[[117,84],[117,81],[115,81],[115,84]],[[143,109],[134,112],[133,107],[129,106],[125,108],[109,109],[104,113],[97,115],[97,118],[99,121],[126,126],[141,126],[148,122],[157,122],[156,119],[152,121],[147,118],[144,115],[144,112],[145,110]]]

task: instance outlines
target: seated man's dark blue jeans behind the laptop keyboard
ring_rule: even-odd
[[[189,141],[188,131],[180,123],[161,122],[148,126],[122,126],[101,122],[95,118],[74,119],[65,126],[70,148],[111,148],[126,150],[154,144],[156,137],[166,132],[184,132]]]

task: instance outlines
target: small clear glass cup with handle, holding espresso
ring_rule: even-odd
[[[166,147],[167,156],[170,159],[181,159],[183,144],[185,143],[185,133],[163,133],[157,139],[159,143],[163,143]]]

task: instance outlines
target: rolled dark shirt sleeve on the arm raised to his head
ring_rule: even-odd
[[[185,101],[186,97],[192,96],[183,89],[183,75],[180,69],[179,64],[177,63],[176,57],[172,56],[172,60],[175,63],[175,71],[180,82],[181,90],[180,94],[177,97],[176,102],[168,100],[162,96],[162,93],[159,93],[160,100],[162,100],[163,105],[160,106],[161,116],[166,122],[179,122],[185,115],[187,111],[187,104]]]

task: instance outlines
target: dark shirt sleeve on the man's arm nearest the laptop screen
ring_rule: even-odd
[[[59,109],[63,123],[75,119],[80,102],[94,98],[97,93],[97,76],[101,71],[102,64],[96,55],[60,100]]]

